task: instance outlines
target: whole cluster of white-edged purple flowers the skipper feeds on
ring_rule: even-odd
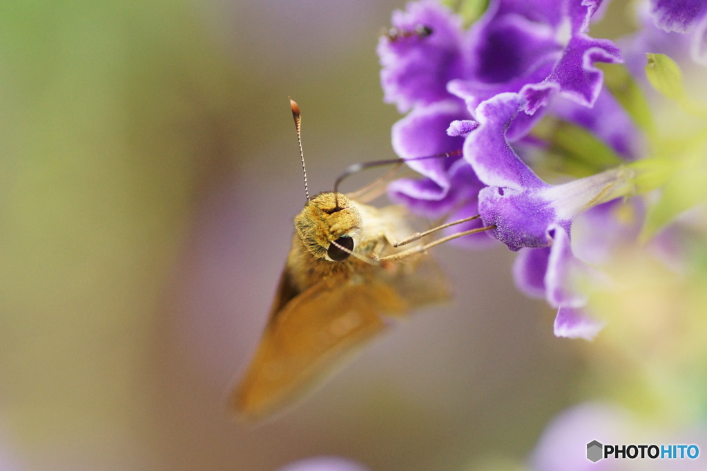
[[[626,202],[645,190],[645,167],[636,167],[645,160],[642,117],[609,92],[597,63],[621,64],[623,53],[635,72],[639,54],[674,44],[662,30],[689,33],[691,56],[707,61],[704,1],[653,0],[645,17],[662,30],[639,33],[623,51],[589,35],[601,13],[602,0],[491,0],[465,29],[450,9],[422,0],[393,14],[394,29],[378,45],[385,101],[407,113],[392,129],[398,155],[462,149],[459,157],[409,162],[423,178],[392,182],[390,197],[431,217],[480,214],[462,230],[493,229],[464,243],[487,245],[491,235],[519,251],[518,287],[554,306],[555,334],[571,338],[591,339],[602,326],[587,309],[588,287],[602,275],[589,251],[571,243],[573,222],[580,214],[596,222],[590,246],[600,253],[612,250],[614,234],[636,237],[645,213],[638,198]],[[559,169],[547,172],[558,138],[542,133],[543,123],[566,126],[566,136],[592,143],[591,153],[577,139]],[[584,172],[573,171],[573,154],[587,157]],[[618,217],[621,205],[636,217]]]

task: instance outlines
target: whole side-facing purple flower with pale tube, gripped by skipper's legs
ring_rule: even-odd
[[[479,192],[479,213],[484,225],[496,226],[491,234],[509,249],[526,248],[516,261],[516,283],[558,308],[555,334],[590,340],[601,323],[582,310],[587,295],[576,287],[592,270],[573,254],[571,225],[592,206],[630,193],[633,172],[619,168],[565,184],[545,183],[504,138],[521,107],[520,95],[505,93],[477,109],[479,125],[464,142],[464,158],[488,185]]]

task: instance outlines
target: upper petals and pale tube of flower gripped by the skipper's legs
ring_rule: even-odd
[[[479,126],[464,142],[464,158],[486,188],[479,192],[479,213],[492,234],[511,250],[549,246],[551,230],[570,232],[583,210],[623,196],[631,190],[626,169],[549,185],[515,154],[506,130],[522,107],[517,93],[503,93],[479,105]]]

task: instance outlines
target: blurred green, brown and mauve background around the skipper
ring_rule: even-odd
[[[226,407],[305,202],[287,97],[310,191],[395,157],[375,45],[402,6],[0,5],[1,469],[470,470],[525,459],[584,397],[592,344],[554,338],[498,244],[435,249],[453,302],[286,415]]]

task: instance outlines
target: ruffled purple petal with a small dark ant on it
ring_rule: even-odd
[[[392,24],[407,33],[422,25],[431,34],[380,38],[383,100],[404,113],[448,98],[447,83],[464,74],[461,18],[436,1],[417,1],[407,4],[406,11],[395,11]]]

